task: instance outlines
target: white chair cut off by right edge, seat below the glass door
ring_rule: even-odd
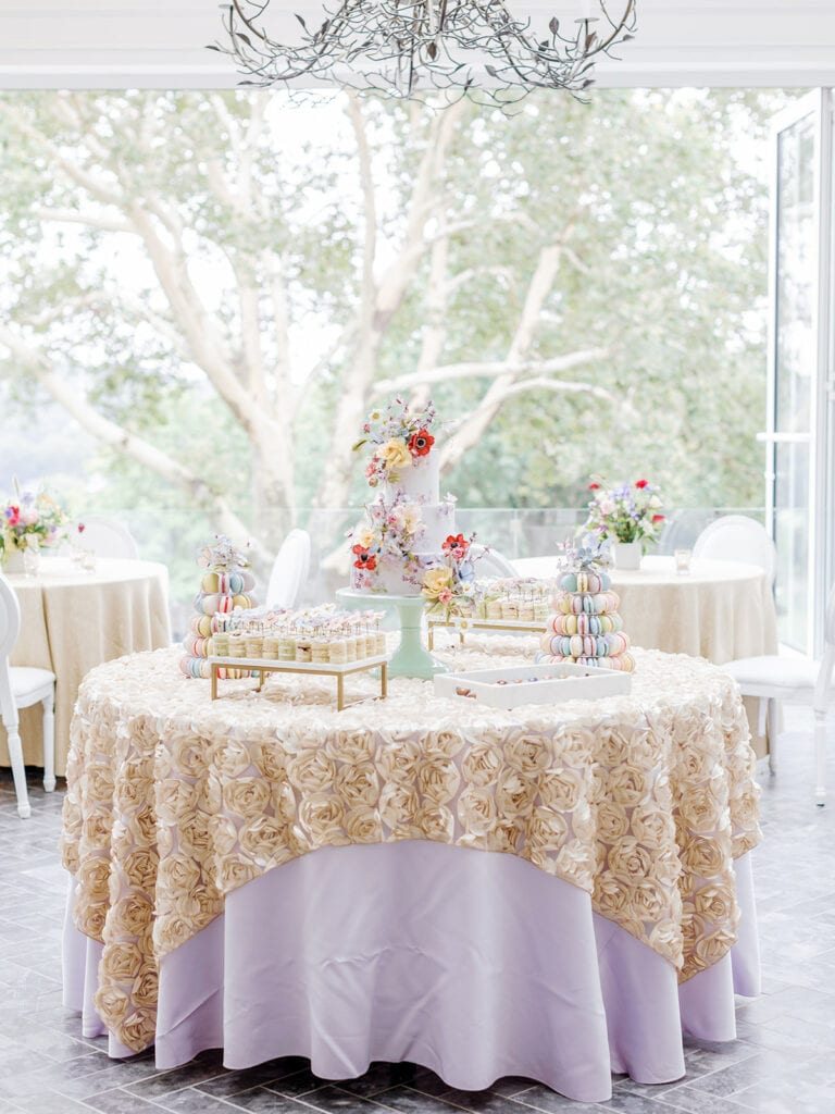
[[[815,713],[815,798],[823,807],[826,798],[826,712],[835,701],[835,585],[829,589],[824,618],[824,655],[819,662],[809,657],[743,657],[728,662],[726,670],[739,684],[743,696],[760,702],[760,734],[764,713],[768,720],[768,766],[776,772],[777,702],[812,704]]]

